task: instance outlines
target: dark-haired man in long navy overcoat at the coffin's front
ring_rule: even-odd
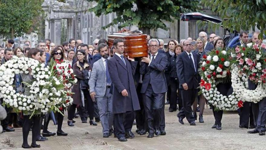
[[[113,45],[115,55],[108,62],[108,70],[113,83],[114,134],[119,141],[124,142],[127,141],[126,138],[135,137],[131,132],[134,111],[140,109],[133,78],[138,62],[124,58],[125,46],[122,39],[115,39]]]

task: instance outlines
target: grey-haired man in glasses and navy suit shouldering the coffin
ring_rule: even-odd
[[[168,58],[165,54],[158,53],[159,42],[157,39],[150,39],[149,49],[151,56],[141,58],[140,73],[144,75],[141,93],[145,95],[144,109],[147,115],[145,120],[148,122],[149,135],[148,138],[155,135],[161,135],[161,131],[165,133],[164,129],[160,131],[161,108],[163,107],[164,95],[167,92],[167,83],[164,71],[169,65]],[[165,134],[164,134],[165,135]]]

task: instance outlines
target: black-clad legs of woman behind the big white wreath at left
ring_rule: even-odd
[[[30,118],[30,115],[24,115],[23,116],[23,127],[22,127],[22,134],[23,134],[23,145],[28,145],[28,135],[30,132],[30,128],[32,125],[32,145],[36,145],[36,139],[39,132],[39,126],[40,126],[40,116],[32,116]],[[39,132],[40,133],[40,132]]]

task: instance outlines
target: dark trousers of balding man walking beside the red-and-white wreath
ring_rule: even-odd
[[[188,89],[188,90],[181,89],[183,107],[180,110],[180,112],[177,114],[177,117],[181,117],[181,118],[186,117],[189,123],[195,121],[195,118],[192,115],[191,106],[193,102],[195,101],[197,92],[198,92],[197,89]]]

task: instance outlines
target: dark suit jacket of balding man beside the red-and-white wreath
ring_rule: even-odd
[[[191,52],[194,58],[194,65],[190,62],[190,58],[187,55],[187,52],[184,51],[177,56],[177,76],[179,79],[179,88],[183,89],[182,84],[187,83],[188,89],[196,89],[199,86],[199,76],[198,76],[198,55]]]

